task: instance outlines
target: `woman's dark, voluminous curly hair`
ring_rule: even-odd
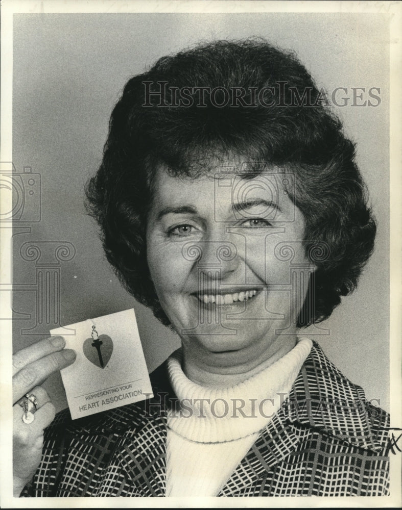
[[[218,89],[201,98],[201,87]],[[250,95],[227,100],[226,90],[243,89]],[[177,91],[185,92],[181,102]],[[196,176],[206,171],[205,160],[229,152],[295,175],[290,198],[304,215],[304,240],[328,247],[328,256],[315,261],[297,325],[326,319],[340,296],[356,288],[375,221],[354,144],[322,91],[292,53],[262,39],[199,45],[159,59],[127,82],[110,118],[102,164],[86,186],[108,261],[124,287],[170,324],[147,265],[156,163],[174,175]]]

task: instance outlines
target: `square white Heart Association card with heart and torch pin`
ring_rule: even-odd
[[[153,396],[133,309],[65,327],[50,334],[77,353],[60,371],[73,420]]]

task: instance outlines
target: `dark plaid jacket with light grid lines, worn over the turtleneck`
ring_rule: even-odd
[[[166,373],[165,364],[152,373],[155,397],[145,402],[74,422],[59,413],[22,496],[164,496],[174,398]],[[387,495],[388,426],[385,411],[314,343],[289,398],[219,496]]]

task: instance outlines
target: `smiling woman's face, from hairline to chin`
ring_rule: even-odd
[[[295,343],[313,266],[283,182],[292,188],[279,170],[246,180],[219,167],[198,179],[158,168],[148,264],[185,352],[201,363],[242,370]]]

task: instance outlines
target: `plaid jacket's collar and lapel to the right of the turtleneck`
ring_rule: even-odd
[[[257,480],[295,451],[305,426],[374,451],[384,448],[387,434],[375,427],[373,430],[363,390],[350,383],[316,342],[313,342],[288,399],[225,483],[219,496],[234,496],[244,490],[249,491],[249,495],[258,496],[253,490]]]

